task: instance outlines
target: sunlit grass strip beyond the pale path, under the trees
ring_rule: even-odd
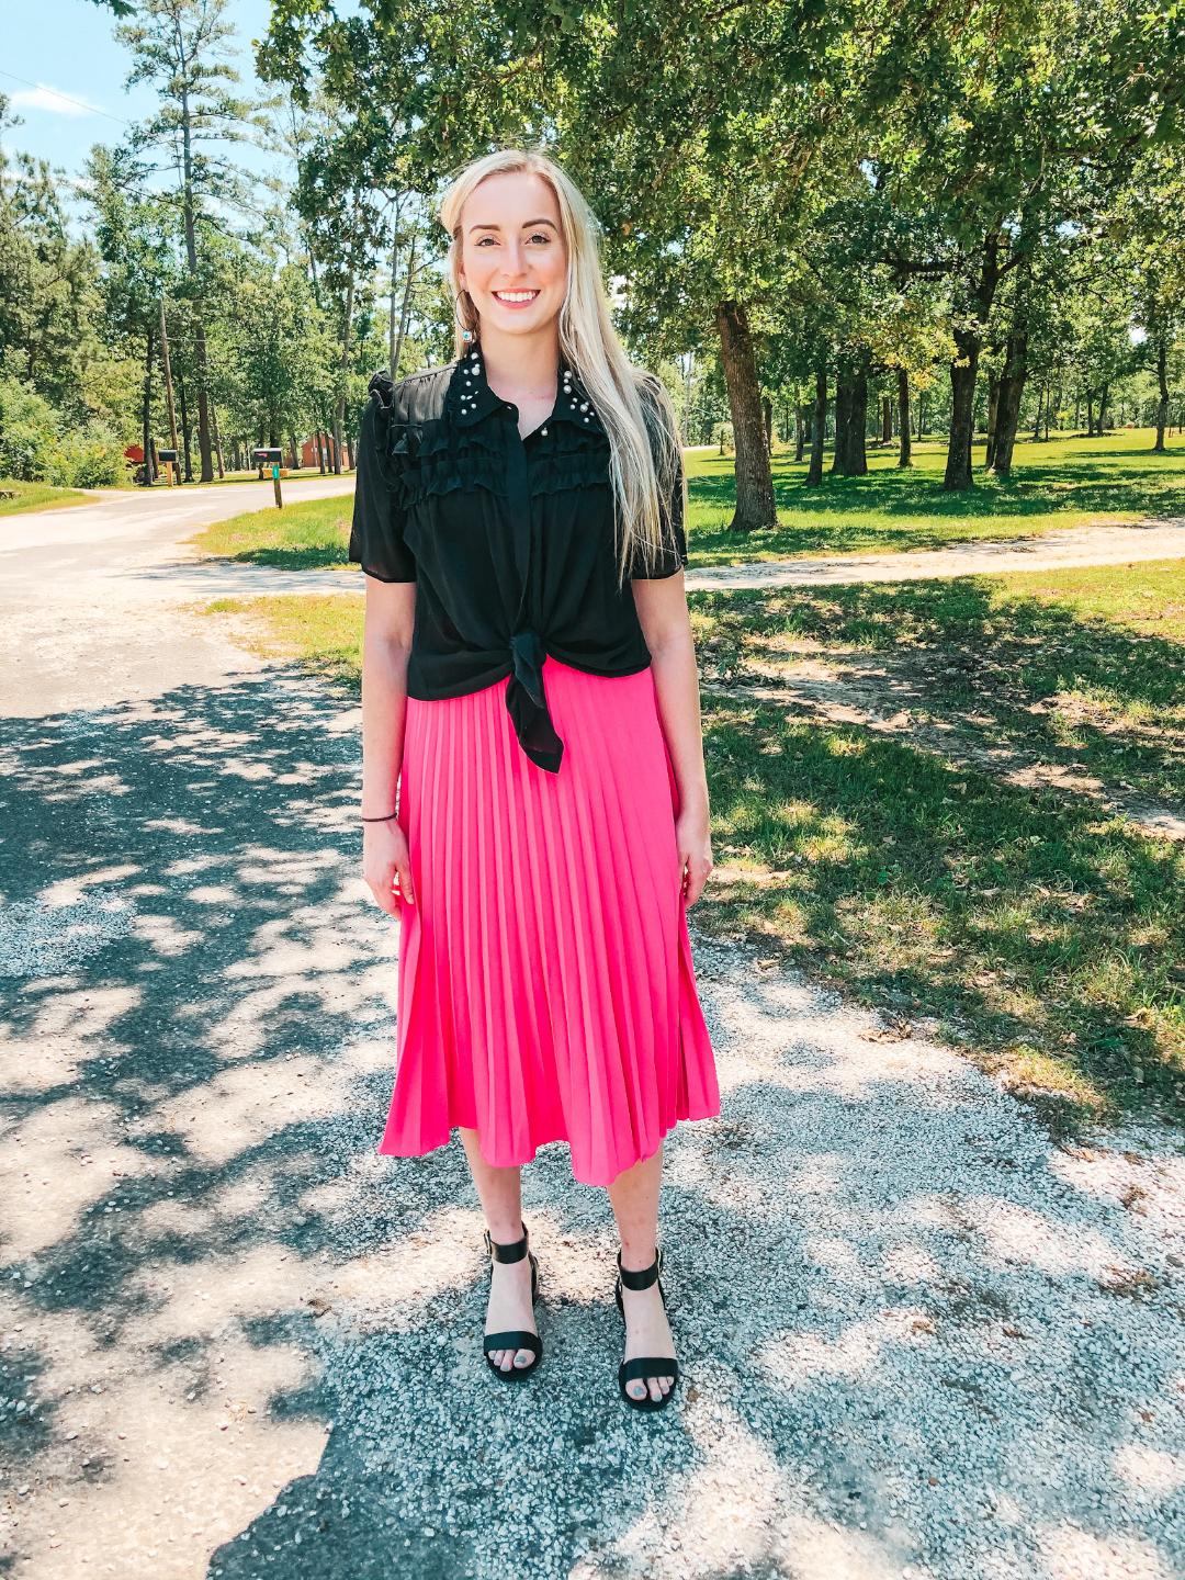
[[[946,446],[935,439],[915,446],[908,471],[897,471],[896,450],[869,450],[867,477],[825,472],[820,488],[806,488],[806,466],[796,466],[792,452],[779,450],[773,461],[779,526],[741,539],[728,531],[736,501],[733,458],[689,450],[689,569],[798,555],[942,548],[1087,521],[1185,515],[1185,439],[1172,442],[1168,455],[1152,455],[1152,441],[1150,428],[1103,439],[1022,439],[1006,483],[984,476],[980,444],[970,495],[942,491]],[[349,510],[348,496],[303,504],[297,499],[283,512],[251,512],[207,528],[196,542],[210,555],[289,570],[344,566]]]

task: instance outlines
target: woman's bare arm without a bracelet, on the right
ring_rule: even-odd
[[[686,867],[683,891],[687,904],[694,905],[713,871],[713,847],[708,774],[703,766],[700,673],[683,570],[670,577],[637,577],[632,586],[679,795],[676,831]]]

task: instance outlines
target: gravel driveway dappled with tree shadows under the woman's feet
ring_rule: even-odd
[[[1059,1144],[695,907],[724,1112],[668,1144],[679,1403],[616,1395],[562,1146],[525,1174],[544,1367],[499,1387],[460,1149],[374,1152],[357,709],[122,600],[114,551],[0,594],[5,1572],[1185,1571],[1180,1138]]]

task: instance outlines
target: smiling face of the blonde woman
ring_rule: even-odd
[[[567,284],[567,246],[559,204],[534,171],[487,175],[461,215],[461,286],[482,329],[537,333],[559,314]],[[523,300],[504,300],[504,294]]]

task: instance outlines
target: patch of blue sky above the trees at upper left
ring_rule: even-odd
[[[250,41],[267,30],[269,3],[231,0],[228,14],[239,33],[243,90],[262,92]],[[114,38],[111,11],[92,0],[0,0],[0,90],[24,118],[6,134],[9,149],[77,175],[95,142],[118,142],[125,123],[152,107],[144,84],[125,90],[128,51]],[[270,163],[250,153],[248,160],[258,169]]]

